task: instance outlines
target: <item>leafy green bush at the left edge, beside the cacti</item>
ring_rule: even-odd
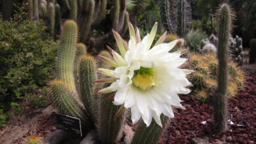
[[[0,106],[5,109],[53,79],[57,43],[43,22],[0,23]]]

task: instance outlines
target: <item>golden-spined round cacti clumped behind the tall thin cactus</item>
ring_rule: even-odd
[[[203,101],[210,100],[214,96],[215,90],[217,90],[217,69],[219,64],[215,52],[209,51],[204,54],[192,52],[188,57],[190,63],[192,63],[189,68],[195,71],[188,77],[189,81],[194,85],[191,95]],[[234,78],[230,79],[227,92],[228,98],[232,98],[244,86],[244,72],[241,67],[238,67],[238,63],[234,61],[228,62],[228,71],[230,77]]]

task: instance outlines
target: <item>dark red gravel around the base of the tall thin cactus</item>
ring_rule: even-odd
[[[175,118],[167,128],[167,137],[160,143],[194,143],[194,137],[202,137],[210,143],[256,143],[256,75],[247,75],[246,86],[235,98],[228,100],[228,122],[226,132],[214,129],[213,107],[207,103],[181,96],[186,110],[177,109]],[[207,121],[206,124],[201,122]],[[231,123],[232,123],[231,122]]]

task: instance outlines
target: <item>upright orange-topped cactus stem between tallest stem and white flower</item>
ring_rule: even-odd
[[[95,94],[96,63],[93,56],[87,54],[79,60],[79,85],[81,92],[81,99],[85,104],[85,109],[89,116],[96,120],[98,116],[98,98]]]

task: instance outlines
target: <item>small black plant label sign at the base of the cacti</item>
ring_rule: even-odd
[[[82,136],[81,121],[79,118],[57,113],[57,128],[74,135]]]

